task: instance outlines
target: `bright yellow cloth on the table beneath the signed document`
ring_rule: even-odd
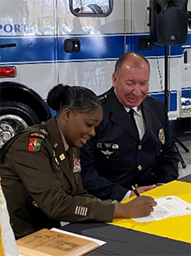
[[[156,189],[144,192],[141,195],[151,195],[154,199],[167,195],[175,195],[191,203],[191,183],[173,181],[165,185],[160,185]],[[123,202],[128,202],[132,199],[134,197],[126,199]],[[115,218],[109,224],[191,243],[191,215],[163,218],[161,221],[144,223],[134,222],[130,218]]]

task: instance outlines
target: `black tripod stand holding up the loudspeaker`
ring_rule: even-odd
[[[168,85],[168,75],[169,75],[169,71],[168,71],[168,47],[164,46],[164,104],[165,107],[167,109],[167,112],[169,112],[169,85]],[[175,144],[175,149],[179,155],[180,158],[180,163],[182,165],[183,168],[186,168],[186,163],[183,160],[183,157],[180,154],[180,151],[178,149],[178,147],[176,146],[176,143],[179,143],[180,146],[182,146],[182,148],[186,151],[186,153],[189,152],[189,149],[186,148],[186,146],[180,141],[180,139],[178,139],[174,134],[173,134],[173,139],[174,139],[174,144]]]

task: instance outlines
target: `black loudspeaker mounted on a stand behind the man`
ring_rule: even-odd
[[[161,46],[183,44],[188,32],[188,0],[150,0],[150,41]]]

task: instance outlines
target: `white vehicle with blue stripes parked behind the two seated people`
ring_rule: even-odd
[[[101,7],[101,15],[97,15],[99,9],[88,7],[92,2]],[[149,3],[1,0],[0,146],[24,126],[50,117],[42,101],[54,85],[89,87],[98,95],[108,90],[115,61],[128,51],[137,51],[150,61],[149,92],[163,100],[164,47],[153,44],[141,50],[138,45],[140,38],[149,38]],[[75,12],[76,8],[81,11]],[[190,0],[188,10],[191,11]],[[168,51],[169,117],[191,117],[190,28],[186,42],[169,46]]]

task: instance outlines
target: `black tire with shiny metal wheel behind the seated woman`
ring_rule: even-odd
[[[2,102],[0,114],[0,147],[24,128],[40,123],[34,110],[18,101]]]

